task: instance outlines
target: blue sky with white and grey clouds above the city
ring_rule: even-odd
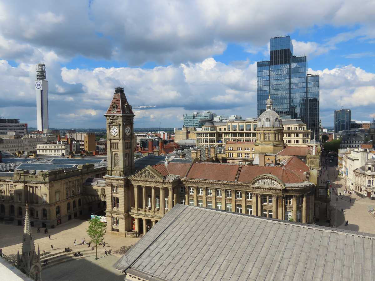
[[[105,128],[123,87],[136,128],[181,127],[183,114],[256,117],[256,63],[270,38],[320,75],[320,118],[375,117],[375,1],[0,2],[0,117],[36,126],[36,64],[45,63],[51,128]]]

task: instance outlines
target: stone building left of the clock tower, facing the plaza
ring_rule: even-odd
[[[1,172],[0,221],[22,225],[26,203],[33,227],[49,228],[102,209],[100,194],[83,183],[88,178],[102,177],[105,170],[87,164],[49,171]]]

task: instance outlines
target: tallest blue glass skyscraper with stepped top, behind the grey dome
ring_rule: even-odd
[[[273,110],[283,119],[302,119],[312,138],[319,138],[319,75],[307,74],[306,57],[293,56],[290,36],[271,39],[270,60],[257,63],[257,114]]]

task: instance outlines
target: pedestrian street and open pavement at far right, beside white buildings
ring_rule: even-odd
[[[336,203],[337,228],[375,233],[375,218],[368,212],[368,206],[375,205],[375,201],[370,198],[359,197],[354,192],[352,195],[344,194],[345,182],[342,178],[338,179],[337,158],[332,163],[328,162],[328,164],[328,170],[326,170],[323,162],[322,178],[324,182],[329,179],[332,183],[331,226],[335,225],[334,207]],[[346,221],[349,222],[347,226],[345,226]]]

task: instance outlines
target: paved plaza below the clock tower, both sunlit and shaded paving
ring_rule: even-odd
[[[66,224],[48,229],[51,240],[48,239],[48,234],[44,234],[44,229],[40,230],[41,233],[37,233],[37,228],[32,227],[35,250],[37,250],[39,245],[41,257],[43,249],[46,255],[50,252],[52,254],[61,252],[65,247],[71,248],[72,252],[87,250],[88,245],[82,245],[82,238],[86,238],[86,242],[89,242],[89,236],[86,234],[88,226],[88,221],[73,219]],[[22,248],[23,227],[2,224],[0,226],[0,237],[0,249],[3,250],[3,253],[13,259],[17,259],[17,250],[21,252]],[[77,240],[77,246],[74,246],[74,239]],[[106,234],[104,236],[106,247],[104,248],[103,245],[98,246],[98,260],[95,260],[95,256],[91,256],[46,267],[46,269],[42,270],[42,278],[43,280],[82,280],[83,278],[123,280],[123,274],[114,269],[112,265],[138,240],[139,238],[124,238]],[[51,244],[53,245],[53,250],[51,250]],[[93,245],[91,244],[90,246]],[[107,251],[111,249],[111,254],[106,256],[104,249],[107,249]],[[95,249],[93,252],[95,252]],[[107,276],[107,278],[104,278],[104,276]]]

